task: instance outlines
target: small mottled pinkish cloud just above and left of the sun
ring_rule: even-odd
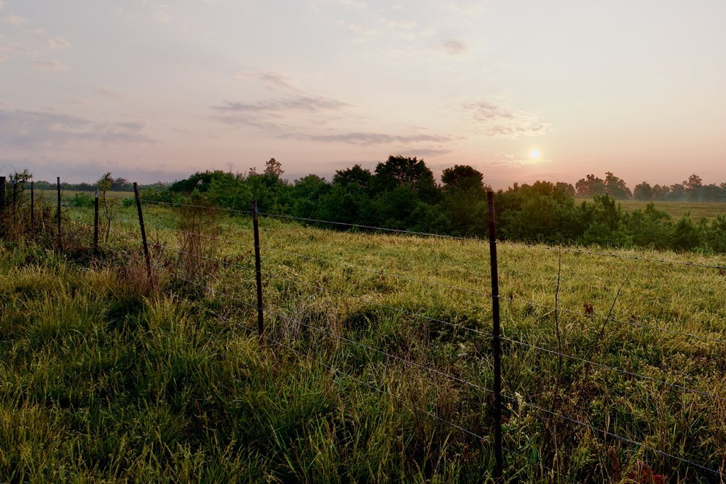
[[[493,138],[520,139],[521,136],[540,136],[552,125],[539,119],[534,112],[513,109],[506,104],[479,101],[462,104],[473,112],[473,118],[484,125],[484,133]]]

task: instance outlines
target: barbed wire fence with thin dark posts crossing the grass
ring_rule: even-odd
[[[5,194],[5,190],[2,190],[2,194]],[[32,186],[30,200],[33,200]],[[3,214],[7,214],[9,205],[12,205],[13,213],[21,211],[17,200],[9,204],[6,197],[2,197],[0,210]],[[165,276],[176,282],[171,291],[179,297],[187,298],[188,292],[184,292],[184,288],[187,290],[193,288],[200,294],[213,295],[227,305],[240,308],[241,311],[237,312],[227,311],[205,305],[203,298],[188,298],[192,304],[200,308],[200,311],[205,311],[209,316],[226,321],[235,327],[242,327],[249,332],[256,331],[261,342],[274,345],[281,351],[295,355],[301,361],[309,361],[309,364],[330,372],[333,378],[366,387],[400,404],[413,414],[430,419],[448,432],[458,432],[467,445],[482,446],[494,461],[495,480],[511,477],[511,474],[518,472],[518,469],[527,469],[525,472],[530,472],[530,475],[551,480],[555,480],[558,476],[572,477],[577,472],[587,472],[567,467],[568,457],[558,453],[558,449],[566,441],[589,443],[595,448],[603,449],[604,452],[600,456],[590,457],[591,464],[600,468],[598,472],[602,475],[613,477],[608,473],[617,474],[621,467],[626,468],[627,466],[621,465],[619,460],[620,456],[629,456],[629,469],[630,472],[635,472],[636,482],[650,482],[645,478],[656,482],[656,469],[665,475],[675,472],[679,480],[721,483],[725,480],[725,435],[716,435],[716,431],[708,428],[704,432],[703,427],[708,425],[700,422],[700,427],[694,427],[691,435],[672,436],[672,440],[680,442],[680,446],[674,447],[672,441],[662,435],[660,430],[658,431],[660,433],[653,432],[653,427],[658,430],[658,425],[648,421],[648,417],[644,416],[644,412],[648,409],[637,408],[637,403],[640,402],[635,401],[645,398],[639,393],[643,388],[645,389],[643,392],[652,390],[661,398],[661,401],[656,402],[659,405],[672,405],[675,409],[673,413],[688,413],[689,409],[696,406],[709,405],[706,414],[714,419],[726,421],[724,375],[711,375],[710,380],[706,379],[711,382],[711,387],[703,387],[701,381],[703,379],[698,380],[688,374],[674,374],[672,369],[660,368],[657,365],[658,361],[635,368],[627,358],[606,358],[609,353],[600,348],[603,345],[605,328],[612,325],[620,331],[640,332],[643,338],[656,338],[656,340],[657,337],[677,338],[684,344],[696,348],[698,345],[713,345],[717,348],[716,353],[721,352],[720,354],[726,356],[725,329],[711,327],[706,334],[697,334],[698,331],[695,329],[666,327],[658,324],[658,321],[613,316],[613,308],[616,306],[620,290],[626,284],[629,275],[621,282],[607,312],[598,312],[592,305],[587,304],[584,305],[583,311],[577,311],[562,307],[558,300],[563,254],[585,258],[610,258],[648,267],[676,266],[684,270],[715,270],[720,274],[726,271],[724,265],[635,254],[605,253],[587,248],[500,241],[496,238],[493,198],[490,194],[488,252],[491,263],[489,274],[479,274],[479,276],[489,277],[491,290],[484,291],[481,288],[465,287],[449,281],[429,280],[400,271],[354,263],[342,254],[331,255],[325,253],[325,250],[322,250],[323,254],[311,254],[304,253],[301,249],[290,248],[290,245],[294,247],[294,244],[276,246],[263,237],[259,221],[280,220],[302,226],[362,231],[365,234],[389,234],[391,237],[467,243],[478,245],[481,252],[484,252],[487,244],[481,239],[264,213],[260,212],[256,205],[247,211],[193,203],[141,200],[137,189],[135,205],[138,219],[129,216],[116,218],[115,226],[110,224],[108,227],[113,238],[108,242],[101,242],[97,197],[93,217],[91,213],[83,213],[81,216],[76,214],[75,217],[63,218],[59,178],[57,208],[54,213],[57,221],[55,227],[57,234],[54,234],[57,241],[55,248],[63,252],[84,245],[91,248],[97,259],[103,253],[110,253],[119,261],[134,257],[134,253],[136,257],[140,257],[139,253],[142,254],[150,284],[158,282],[155,281],[158,277]],[[152,208],[152,215],[147,214],[145,220],[144,205]],[[45,217],[38,217],[33,202],[30,203],[28,210],[30,220],[28,232],[37,235],[36,221],[38,218],[41,221],[48,218],[47,214],[50,212],[46,210]],[[227,217],[230,222],[225,231],[214,233],[210,227],[203,229],[193,224],[179,223],[179,213],[184,210],[200,217],[216,213],[218,219]],[[271,226],[265,230],[275,229]],[[49,231],[49,224],[44,223],[42,232],[47,235]],[[151,244],[147,240],[147,231],[152,232]],[[190,240],[192,242],[189,242]],[[219,250],[208,250],[211,246],[227,247],[227,255],[219,255]],[[231,247],[236,249],[232,250]],[[505,290],[504,294],[500,294],[497,247],[557,255],[557,289],[554,303],[527,298],[513,290]],[[274,255],[274,258],[266,257],[263,265],[261,254]],[[340,274],[348,274],[346,279],[348,283],[338,284],[340,281],[333,282],[325,275],[320,276],[316,282],[310,282],[295,270],[296,261],[317,266],[321,269],[321,274],[322,268],[338,269]],[[184,266],[187,266],[187,269],[184,269]],[[189,266],[193,269],[189,269]],[[231,279],[211,278],[211,273],[217,268],[224,268],[230,274],[241,272],[248,275]],[[385,298],[376,300],[370,295],[370,287],[361,289],[362,284],[359,282],[364,276],[359,276],[358,280],[353,274],[364,274],[373,280],[390,279],[401,284],[416,284],[417,287],[423,288],[422,290],[426,291],[425,294],[430,298],[455,295],[476,307],[474,311],[476,317],[457,317],[457,315],[452,317],[451,314],[437,316],[436,311],[427,311],[423,305],[395,304],[386,302],[388,300]],[[514,276],[516,274],[511,275]],[[476,282],[481,280],[479,278]],[[373,289],[375,290],[375,287]],[[325,316],[311,318],[292,303],[280,303],[280,298],[266,302],[264,297],[270,292],[284,295],[290,298],[290,301],[295,301],[295,298],[306,300],[308,303],[311,298],[340,301],[348,311],[348,316],[356,316],[356,308],[364,308],[364,312],[367,313],[375,311],[381,315],[381,318],[394,319],[420,329],[422,334],[426,335],[424,339],[428,344],[423,348],[415,350],[409,348],[405,351],[398,348],[395,341],[370,335],[359,338],[356,337],[354,327],[340,328],[339,325],[331,323],[330,320],[335,316],[330,316],[328,319]],[[224,305],[222,307],[224,308]],[[517,321],[518,315],[523,315],[525,318],[534,316],[539,321],[552,320],[555,326],[554,335],[549,335],[550,340],[547,341],[547,338],[535,334],[543,333],[542,328],[538,328],[537,331],[521,329]],[[369,316],[370,314],[364,314],[364,319],[371,319]],[[590,344],[583,345],[577,344],[577,341],[566,340],[565,336],[571,334],[563,336],[565,324],[563,316],[582,323],[582,327],[590,325],[593,329],[591,331],[593,338],[588,341]],[[256,323],[256,327],[250,327],[252,321]],[[452,358],[442,358],[441,350],[437,348],[442,340],[436,340],[432,335],[441,335],[444,333],[443,328],[452,335],[470,337],[470,340],[466,337],[458,339],[450,337],[451,342],[475,341],[479,345],[474,352],[475,357],[466,354],[468,352],[462,349],[463,356],[457,355],[453,358],[454,361]],[[569,332],[573,330],[570,329]],[[301,338],[325,343],[327,348],[333,349],[323,354],[314,351],[316,347],[312,344],[306,348],[301,347],[297,343]],[[462,343],[460,345],[464,346]],[[348,348],[348,352],[342,348]],[[357,358],[351,358],[351,355]],[[598,356],[603,359],[597,359]],[[465,361],[465,364],[460,364],[461,360]],[[366,364],[361,364],[361,361],[380,361],[383,365],[377,367],[383,369],[380,374],[370,374],[370,372],[362,374],[359,366]],[[531,372],[527,369],[528,364],[550,367],[554,380],[548,380],[546,383],[554,387],[544,387],[545,382],[529,385],[536,380],[536,377],[526,374],[528,371]],[[407,394],[401,385],[396,385],[394,377],[386,374],[395,369],[420,374],[431,386],[429,389],[431,394]],[[726,372],[726,366],[723,371]],[[616,377],[621,380],[616,380]],[[603,380],[599,386],[593,383],[598,378]],[[618,387],[615,391],[608,388],[608,385],[619,385],[622,388]],[[441,398],[445,393],[444,390],[450,387],[457,387],[457,390],[452,390],[451,393],[454,395],[453,402]],[[601,388],[608,389],[608,394],[602,401],[598,401],[597,390]],[[629,398],[631,395],[632,398]],[[669,412],[666,410],[664,413]],[[539,426],[532,422],[539,422]],[[528,426],[541,434],[537,445],[529,442],[531,435],[525,435]],[[708,435],[699,437],[699,432]],[[578,448],[574,446],[571,450]],[[621,454],[618,454],[618,451]],[[604,470],[608,466],[614,470]]]

